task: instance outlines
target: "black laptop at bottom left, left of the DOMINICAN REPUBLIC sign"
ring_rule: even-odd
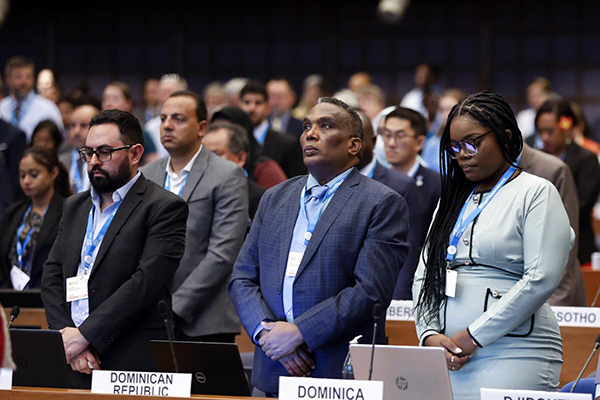
[[[59,331],[10,329],[17,370],[13,386],[89,389],[91,376],[73,371]]]

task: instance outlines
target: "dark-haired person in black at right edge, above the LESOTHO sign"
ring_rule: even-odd
[[[544,151],[565,162],[571,169],[579,199],[579,261],[584,264],[596,251],[592,210],[600,194],[600,164],[594,153],[580,147],[572,137],[577,117],[566,100],[548,100],[538,110],[535,127]]]

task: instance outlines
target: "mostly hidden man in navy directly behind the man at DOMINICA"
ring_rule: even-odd
[[[410,221],[408,240],[410,247],[404,265],[398,275],[398,282],[396,282],[396,288],[394,289],[394,299],[412,300],[413,276],[419,263],[419,255],[421,254],[421,248],[425,241],[425,233],[428,228],[425,224],[428,221],[425,220],[423,204],[415,182],[408,175],[394,169],[386,168],[373,158],[373,148],[375,147],[373,125],[369,117],[365,114],[362,112],[358,114],[363,123],[364,139],[362,158],[356,168],[364,176],[373,178],[398,192],[408,205]]]

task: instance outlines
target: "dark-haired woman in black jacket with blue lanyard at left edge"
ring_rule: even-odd
[[[70,195],[67,171],[45,148],[25,150],[19,181],[27,197],[10,205],[0,224],[0,286],[15,290],[40,287],[42,266]]]

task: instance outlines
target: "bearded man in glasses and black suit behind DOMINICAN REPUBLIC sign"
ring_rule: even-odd
[[[67,199],[44,265],[48,325],[80,372],[153,370],[149,341],[166,338],[157,303],[171,303],[188,208],[138,172],[143,143],[127,112],[92,119],[80,152],[92,189]]]

